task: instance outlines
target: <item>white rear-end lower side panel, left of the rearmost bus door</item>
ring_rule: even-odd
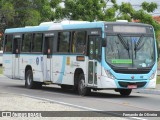
[[[12,62],[12,54],[3,54],[3,74],[9,78],[13,78]]]

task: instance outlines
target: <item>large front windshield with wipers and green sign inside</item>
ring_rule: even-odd
[[[144,35],[107,35],[106,61],[114,67],[146,68],[155,60],[154,39]]]

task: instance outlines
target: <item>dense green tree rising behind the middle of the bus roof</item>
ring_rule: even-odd
[[[71,20],[105,20],[104,0],[65,0],[64,16]]]

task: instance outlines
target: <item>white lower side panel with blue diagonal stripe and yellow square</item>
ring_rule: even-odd
[[[86,75],[86,61],[77,61],[76,56],[63,55],[52,57],[52,68],[53,68],[53,83],[74,85],[74,73],[77,68],[83,70]],[[86,78],[87,80],[87,78]]]

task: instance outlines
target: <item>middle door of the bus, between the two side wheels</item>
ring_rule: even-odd
[[[43,76],[44,81],[51,81],[52,77],[52,53],[53,53],[53,40],[54,37],[49,34],[45,34],[44,39],[44,64],[43,64]]]

